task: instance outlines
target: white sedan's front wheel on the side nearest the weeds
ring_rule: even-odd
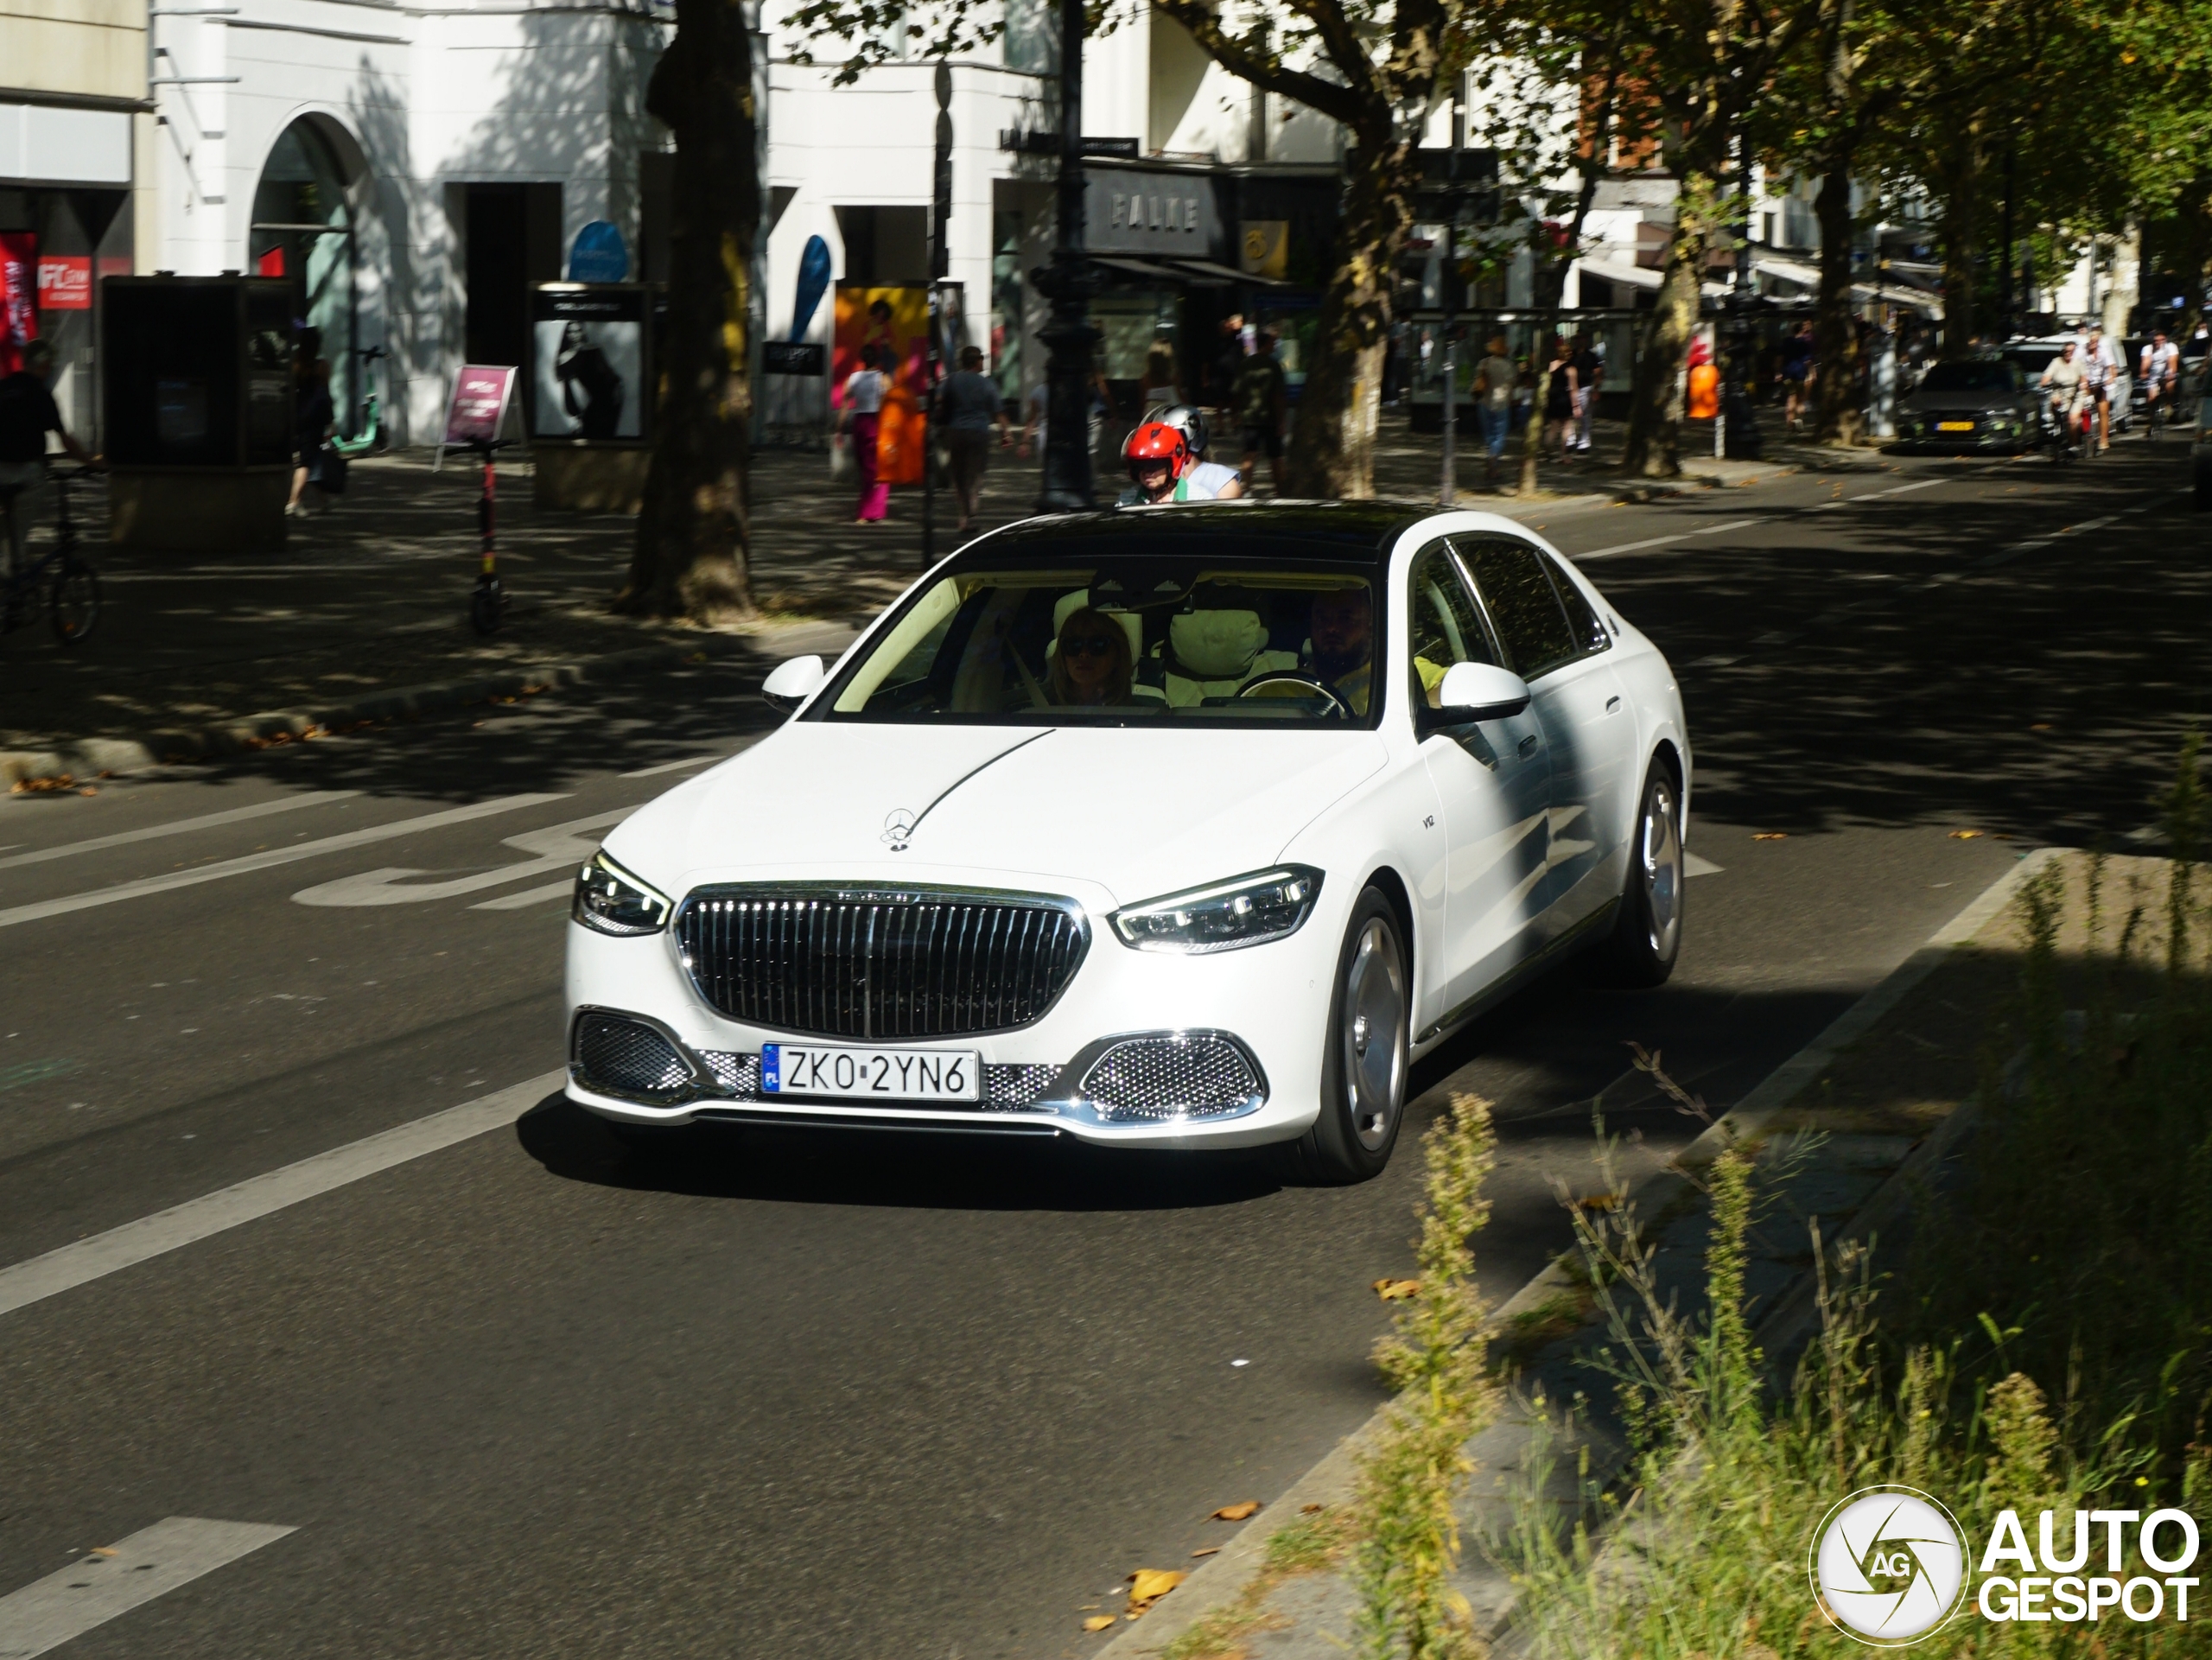
[[[1285,1173],[1294,1180],[1349,1186],[1374,1180],[1389,1164],[1405,1122],[1411,985],[1398,912],[1380,888],[1365,888],[1336,954],[1321,1051],[1321,1118],[1283,1144]]]

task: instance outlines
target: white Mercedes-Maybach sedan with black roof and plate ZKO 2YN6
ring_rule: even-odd
[[[1389,1160],[1407,1067],[1568,954],[1681,947],[1666,660],[1491,513],[1035,518],[577,876],[568,1096],[695,1122]]]

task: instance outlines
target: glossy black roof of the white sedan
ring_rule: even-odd
[[[1433,513],[1418,502],[1177,502],[1024,518],[964,553],[998,562],[1040,544],[1082,542],[1095,558],[1203,553],[1208,560],[1380,558],[1398,533]]]

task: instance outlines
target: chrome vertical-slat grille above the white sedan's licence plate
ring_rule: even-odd
[[[1026,894],[708,888],[677,916],[692,985],[732,1020],[825,1038],[956,1038],[1037,1020],[1091,945]]]

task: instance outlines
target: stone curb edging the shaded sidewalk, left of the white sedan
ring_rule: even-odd
[[[849,635],[843,624],[818,624]],[[794,635],[805,631],[794,629]],[[792,644],[805,644],[794,640]],[[0,750],[0,784],[24,784],[51,777],[97,777],[144,772],[179,761],[199,761],[215,755],[239,755],[246,750],[272,748],[292,739],[321,735],[336,726],[361,722],[414,719],[447,708],[467,708],[493,697],[524,697],[562,686],[582,686],[593,679],[619,679],[646,673],[692,657],[743,657],[757,651],[752,637],[730,640],[728,635],[701,635],[699,640],[670,642],[659,646],[633,646],[611,651],[599,657],[571,657],[564,662],[520,664],[489,675],[467,679],[434,679],[420,686],[394,686],[369,693],[345,704],[319,704],[310,708],[274,708],[221,726],[155,730],[142,737],[86,737],[51,750]]]

